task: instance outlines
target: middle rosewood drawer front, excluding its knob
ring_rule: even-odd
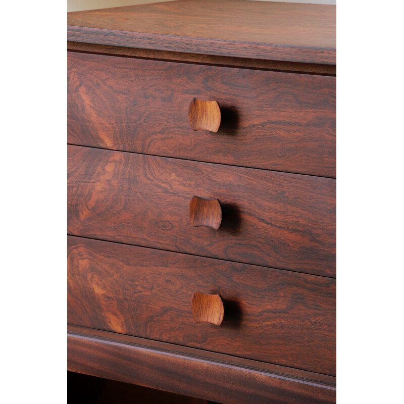
[[[335,276],[335,180],[68,146],[68,233]],[[192,227],[196,195],[219,230]]]

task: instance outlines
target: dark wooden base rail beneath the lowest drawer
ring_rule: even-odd
[[[293,369],[284,368],[285,373],[274,373],[239,365],[227,356],[207,359],[203,351],[183,354],[165,344],[160,344],[162,347],[150,345],[153,341],[143,340],[138,344],[135,338],[111,333],[97,336],[93,330],[88,331],[92,335],[68,334],[70,371],[224,404],[335,402],[335,379],[334,384],[316,382],[305,377],[311,377],[308,373],[294,376]]]

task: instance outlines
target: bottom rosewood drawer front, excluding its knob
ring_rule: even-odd
[[[194,291],[220,294],[220,326]],[[335,375],[335,279],[68,237],[68,322]]]

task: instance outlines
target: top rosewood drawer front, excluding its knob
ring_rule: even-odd
[[[335,77],[68,54],[68,142],[335,177]],[[188,106],[216,100],[217,133]]]

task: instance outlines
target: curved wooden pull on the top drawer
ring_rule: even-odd
[[[209,130],[217,133],[221,122],[219,104],[216,101],[192,98],[188,108],[188,119],[193,130]]]

